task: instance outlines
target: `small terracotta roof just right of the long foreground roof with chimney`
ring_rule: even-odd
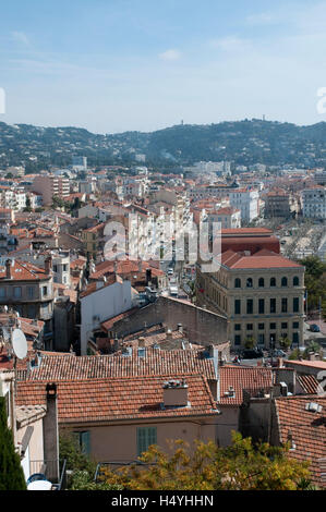
[[[220,374],[220,405],[241,405],[243,390],[268,392],[273,387],[273,373],[270,368],[245,367],[225,365],[219,368]],[[234,389],[234,398],[225,393],[229,388]]]

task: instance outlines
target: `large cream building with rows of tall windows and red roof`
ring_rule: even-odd
[[[197,270],[197,305],[228,318],[233,348],[247,339],[265,349],[288,338],[303,344],[304,267],[261,249],[250,255],[227,251],[216,273]]]

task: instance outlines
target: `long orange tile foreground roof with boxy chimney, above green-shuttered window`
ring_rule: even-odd
[[[189,386],[190,406],[162,407],[162,386],[182,377]],[[203,375],[160,375],[119,379],[61,380],[58,382],[59,424],[76,422],[113,422],[216,415],[208,383]],[[46,403],[46,383],[19,382],[16,404]]]

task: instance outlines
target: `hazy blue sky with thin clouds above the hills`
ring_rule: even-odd
[[[326,121],[326,1],[1,2],[0,87],[0,121],[98,133]]]

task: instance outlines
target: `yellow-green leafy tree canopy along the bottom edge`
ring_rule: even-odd
[[[307,462],[287,456],[289,447],[254,446],[251,438],[232,432],[232,443],[219,448],[196,441],[194,450],[176,441],[171,454],[156,446],[140,458],[146,466],[111,471],[101,479],[128,490],[303,490],[311,489]]]

